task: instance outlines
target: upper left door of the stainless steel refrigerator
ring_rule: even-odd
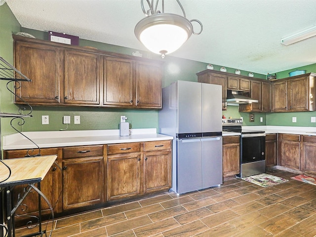
[[[177,84],[178,108],[176,121],[178,131],[176,133],[202,132],[201,83],[179,80]]]

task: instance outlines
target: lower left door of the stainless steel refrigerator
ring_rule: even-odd
[[[178,194],[202,188],[202,142],[200,139],[176,140]]]

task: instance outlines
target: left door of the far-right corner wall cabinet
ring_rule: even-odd
[[[287,81],[272,84],[272,112],[287,111]]]

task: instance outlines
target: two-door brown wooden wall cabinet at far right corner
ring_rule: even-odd
[[[309,73],[272,84],[272,112],[315,111],[316,74]]]

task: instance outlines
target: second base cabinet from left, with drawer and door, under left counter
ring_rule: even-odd
[[[63,148],[63,210],[104,201],[103,145]]]

